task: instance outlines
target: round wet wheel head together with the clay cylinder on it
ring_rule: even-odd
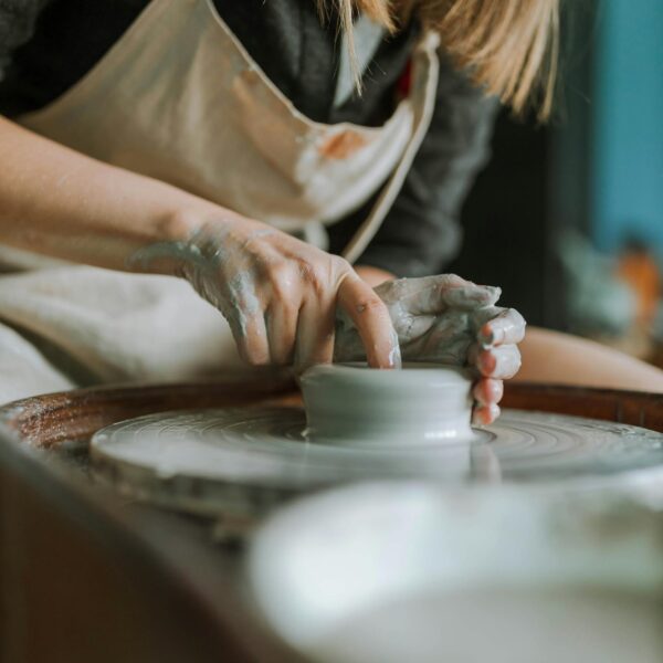
[[[568,490],[663,476],[663,434],[644,428],[506,410],[473,429],[471,385],[430,365],[319,366],[301,380],[305,410],[150,414],[97,432],[92,461],[127,494],[212,515],[380,478]]]

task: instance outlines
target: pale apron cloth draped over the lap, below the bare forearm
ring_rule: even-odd
[[[0,402],[238,369],[223,316],[179,278],[62,266],[0,276]]]

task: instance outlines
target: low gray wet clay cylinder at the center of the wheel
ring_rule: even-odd
[[[469,442],[473,436],[472,379],[461,369],[320,365],[302,376],[301,386],[312,441],[400,446]]]

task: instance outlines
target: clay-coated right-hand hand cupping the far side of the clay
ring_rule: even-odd
[[[389,281],[375,292],[387,304],[404,360],[475,369],[474,421],[492,423],[499,414],[502,381],[520,367],[517,344],[525,336],[523,316],[513,308],[495,306],[501,290],[443,274]],[[335,359],[362,358],[357,330],[341,312]]]

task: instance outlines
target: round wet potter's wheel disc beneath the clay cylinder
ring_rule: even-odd
[[[470,443],[396,448],[311,442],[305,427],[299,408],[166,412],[99,431],[91,455],[125,493],[201,513],[377,478],[569,486],[663,477],[662,433],[560,414],[506,410]]]

